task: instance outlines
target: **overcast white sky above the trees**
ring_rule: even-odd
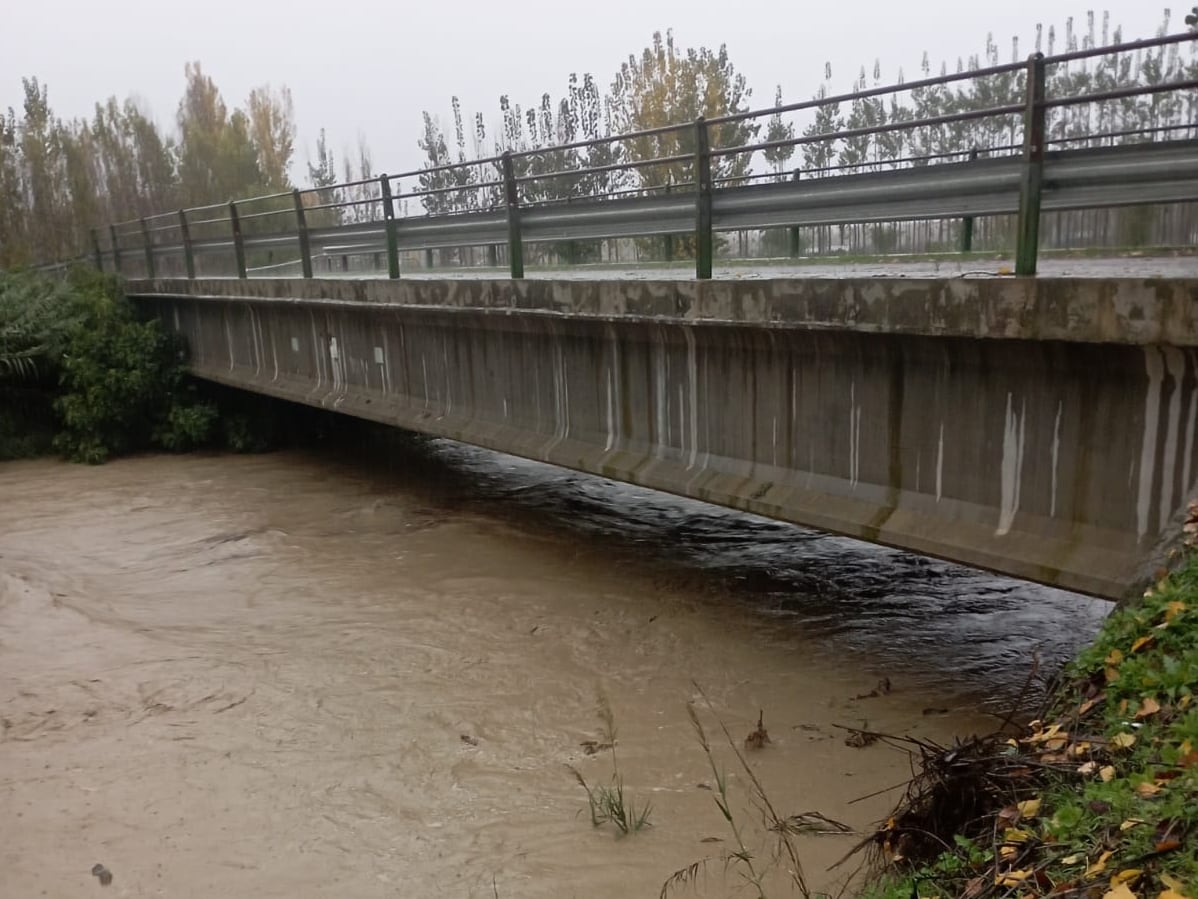
[[[1170,31],[1184,29],[1185,2]],[[592,72],[606,88],[657,29],[672,28],[683,47],[726,43],[762,107],[775,84],[788,101],[809,97],[824,62],[848,89],[875,59],[884,80],[900,66],[910,78],[925,49],[938,66],[981,53],[987,32],[1004,59],[1019,35],[1025,55],[1037,22],[1060,34],[1072,16],[1084,32],[1088,8],[1067,0],[13,0],[0,14],[0,108],[19,108],[20,78],[36,76],[62,117],[135,95],[170,125],[183,64],[200,60],[230,107],[266,82],[291,89],[297,175],[321,127],[338,156],[363,134],[375,170],[395,173],[419,164],[422,110],[447,123],[458,95],[467,114],[482,110],[490,122],[500,93],[521,105],[544,91],[556,98],[570,72]],[[1155,34],[1164,10],[1150,0],[1107,8],[1127,40]],[[1102,8],[1096,19],[1101,35]]]

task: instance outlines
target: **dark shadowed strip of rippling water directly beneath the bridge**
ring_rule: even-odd
[[[345,420],[339,420],[344,422]],[[358,424],[356,422],[355,424]],[[598,553],[629,577],[734,604],[764,639],[859,660],[1005,713],[1097,632],[1111,603],[811,531],[449,440],[365,423],[315,450],[322,465],[403,490],[446,518],[470,513]],[[337,429],[338,432],[341,428]]]

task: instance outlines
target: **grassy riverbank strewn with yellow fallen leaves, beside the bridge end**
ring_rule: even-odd
[[[970,750],[976,771],[955,784],[956,801],[998,784],[1005,802],[940,834],[952,849],[914,867],[901,810],[878,841],[903,873],[870,895],[1198,895],[1198,503],[1186,530],[1176,567],[1107,619],[1047,713]]]

